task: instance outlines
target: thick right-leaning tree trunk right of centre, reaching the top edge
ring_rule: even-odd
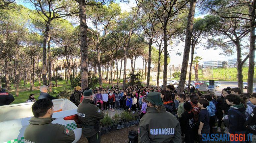
[[[187,20],[186,39],[185,39],[185,47],[183,52],[181,76],[180,76],[180,82],[179,82],[179,87],[177,91],[178,94],[182,94],[184,91],[184,84],[186,80],[187,66],[188,66],[188,59],[189,59],[189,52],[190,52],[190,45],[191,45],[193,21],[194,21],[194,15],[195,15],[195,6],[196,6],[196,0],[191,0],[189,13],[188,13],[188,20]]]

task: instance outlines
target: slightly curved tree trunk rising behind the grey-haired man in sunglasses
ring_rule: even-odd
[[[46,80],[46,74],[47,74],[47,66],[46,66],[46,44],[48,42],[48,33],[50,29],[50,20],[46,22],[45,26],[45,31],[44,31],[44,36],[43,36],[43,73],[42,73],[42,79],[43,79],[43,85],[47,85],[47,80]]]

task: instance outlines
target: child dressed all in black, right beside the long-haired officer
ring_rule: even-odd
[[[191,112],[192,106],[189,102],[184,103],[185,112],[182,114],[181,126],[183,128],[185,134],[185,142],[186,143],[194,143],[194,135],[191,134],[193,132],[194,126],[194,114]]]

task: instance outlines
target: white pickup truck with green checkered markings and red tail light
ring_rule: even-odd
[[[68,99],[52,101],[55,111],[52,117],[57,118],[52,123],[62,124],[69,130],[73,130],[74,142],[77,142],[82,135],[80,124],[76,122],[77,120],[72,120],[74,116],[77,118],[77,106]],[[31,109],[33,103],[0,106],[0,143],[24,143],[24,132],[29,125],[28,121],[33,116]]]

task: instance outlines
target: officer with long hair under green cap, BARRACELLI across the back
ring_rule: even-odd
[[[148,112],[140,119],[139,123],[139,142],[181,143],[180,123],[174,115],[166,112],[160,93],[150,92],[147,103]]]

